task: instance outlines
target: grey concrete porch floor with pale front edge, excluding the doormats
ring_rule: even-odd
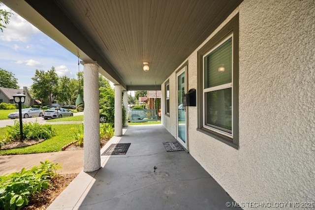
[[[232,198],[189,153],[164,149],[162,142],[176,140],[163,126],[129,126],[124,132],[101,153],[118,142],[131,143],[127,153],[101,155],[102,167],[82,171],[49,210],[234,209],[226,207]]]

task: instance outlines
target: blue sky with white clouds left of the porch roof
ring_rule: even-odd
[[[0,8],[14,14],[3,32],[0,31],[0,68],[12,72],[20,88],[31,87],[35,69],[47,71],[54,66],[59,76],[77,78],[77,56],[7,6],[1,4]]]

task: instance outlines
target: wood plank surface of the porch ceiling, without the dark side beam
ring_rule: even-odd
[[[40,4],[40,0],[27,1]],[[241,2],[55,0],[86,41],[110,64],[103,69],[112,68],[127,86],[162,84]],[[142,70],[144,61],[149,62],[148,72]]]

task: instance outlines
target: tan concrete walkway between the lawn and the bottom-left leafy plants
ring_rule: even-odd
[[[22,168],[31,169],[45,160],[59,163],[63,167],[57,171],[59,174],[78,174],[83,168],[83,150],[1,155],[0,175],[18,172]]]

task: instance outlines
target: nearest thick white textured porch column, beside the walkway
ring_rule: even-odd
[[[84,63],[84,159],[83,171],[100,168],[98,65]]]

